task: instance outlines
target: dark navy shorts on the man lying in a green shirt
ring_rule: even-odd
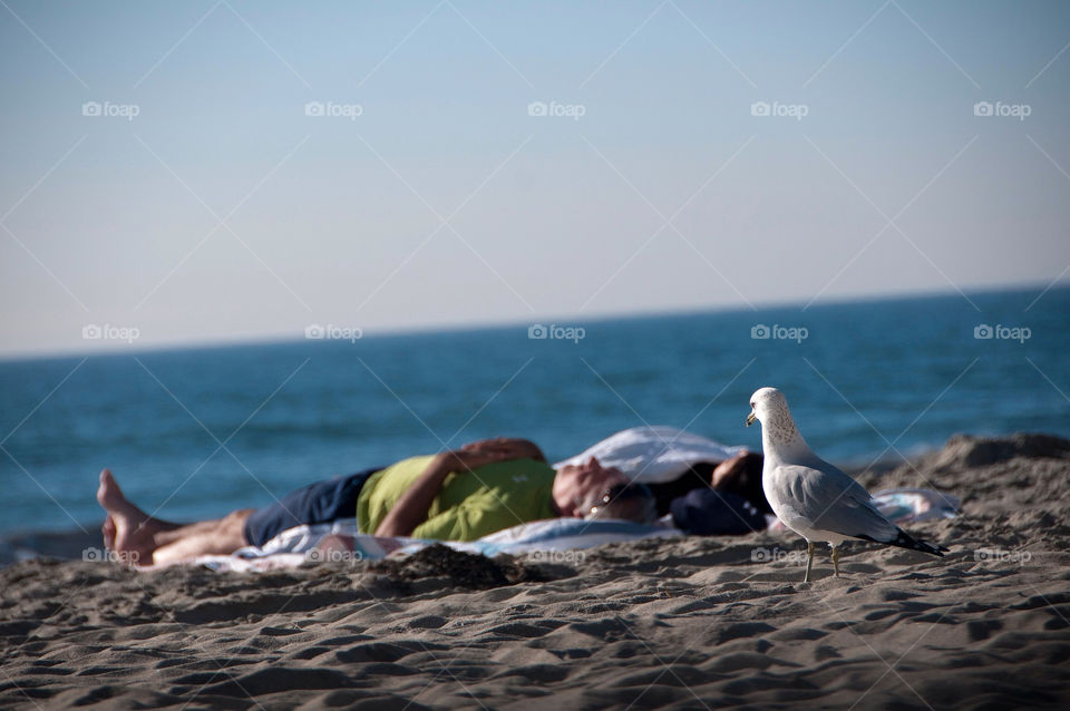
[[[357,497],[364,481],[382,467],[317,481],[291,491],[271,506],[257,508],[245,522],[245,540],[263,546],[286,528],[329,524],[357,516]]]

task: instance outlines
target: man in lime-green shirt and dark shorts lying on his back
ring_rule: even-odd
[[[354,509],[361,533],[474,540],[531,520],[582,516],[607,489],[625,484],[620,470],[593,457],[555,471],[533,442],[499,437],[319,481],[265,508],[194,524],[147,515],[108,469],[100,473],[97,501],[107,513],[105,546],[125,562],[149,565],[230,555],[285,528],[346,518]]]

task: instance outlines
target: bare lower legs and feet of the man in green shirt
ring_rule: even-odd
[[[175,524],[154,518],[132,504],[107,469],[100,473],[97,501],[108,513],[100,527],[105,546],[138,565],[171,564],[198,555],[228,555],[249,545],[241,509],[216,520]]]

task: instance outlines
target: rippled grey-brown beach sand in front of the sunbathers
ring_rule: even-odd
[[[960,496],[961,517],[909,527],[952,552],[848,544],[835,578],[823,546],[809,584],[801,540],[771,533],[473,575],[19,563],[0,569],[0,707],[1067,709],[1068,457],[955,438],[864,473]]]

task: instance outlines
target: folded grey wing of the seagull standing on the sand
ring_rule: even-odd
[[[777,469],[792,499],[791,507],[814,528],[879,543],[898,536],[898,527],[877,510],[865,487],[827,461],[816,459],[813,466],[780,465]]]

